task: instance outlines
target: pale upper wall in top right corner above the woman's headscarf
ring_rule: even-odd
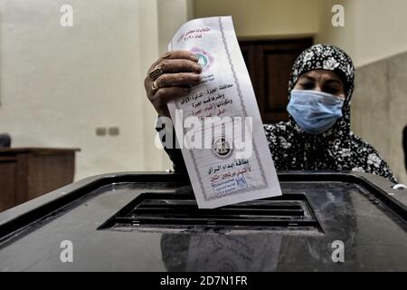
[[[345,27],[330,23],[331,8],[345,7]],[[407,51],[407,1],[319,0],[318,43],[334,43],[348,52],[355,66]]]

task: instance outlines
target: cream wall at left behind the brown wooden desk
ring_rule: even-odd
[[[60,25],[64,4],[73,27]],[[156,0],[0,1],[0,131],[14,147],[80,148],[76,179],[165,168],[143,88],[158,23]],[[96,136],[110,126],[118,137]]]

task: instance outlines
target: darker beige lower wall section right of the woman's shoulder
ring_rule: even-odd
[[[407,184],[402,129],[407,125],[407,53],[357,69],[352,129],[379,150]]]

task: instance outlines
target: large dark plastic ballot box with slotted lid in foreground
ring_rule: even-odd
[[[0,271],[407,271],[407,190],[279,172],[282,196],[199,209],[188,176],[83,179],[0,214]]]

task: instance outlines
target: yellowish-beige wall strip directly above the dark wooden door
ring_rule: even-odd
[[[318,0],[194,0],[194,17],[232,15],[239,37],[317,34]]]

